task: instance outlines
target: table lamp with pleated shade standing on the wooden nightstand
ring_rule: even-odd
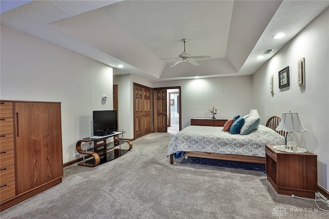
[[[282,113],[277,131],[287,132],[287,149],[297,151],[296,135],[294,132],[307,132],[307,129],[299,119],[298,113]]]

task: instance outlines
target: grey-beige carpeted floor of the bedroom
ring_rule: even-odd
[[[152,133],[95,168],[71,166],[63,182],[0,213],[5,218],[329,218],[314,202],[279,195],[262,171],[170,165],[172,135]],[[329,209],[326,204],[320,207]]]

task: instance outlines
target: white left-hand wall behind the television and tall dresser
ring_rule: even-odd
[[[3,100],[62,103],[67,162],[80,157],[76,142],[92,135],[93,111],[113,109],[113,68],[1,25],[0,91]]]

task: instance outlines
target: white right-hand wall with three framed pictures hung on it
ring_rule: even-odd
[[[298,112],[308,132],[298,145],[318,155],[318,182],[329,185],[329,9],[320,14],[253,75],[253,97],[262,117]],[[297,83],[297,61],[305,57],[306,86]],[[278,72],[289,66],[290,86],[280,90]],[[275,76],[274,95],[270,75]],[[262,123],[266,121],[263,120]]]

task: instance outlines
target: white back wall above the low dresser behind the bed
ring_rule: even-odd
[[[252,76],[190,79],[154,82],[153,87],[181,86],[182,129],[192,118],[211,118],[210,108],[217,106],[216,118],[246,115],[255,108],[252,94]],[[262,112],[259,112],[260,115]],[[262,115],[261,115],[262,116]]]

